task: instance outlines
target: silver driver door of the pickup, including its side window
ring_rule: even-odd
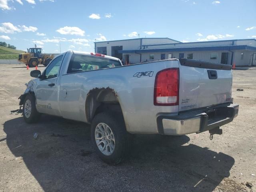
[[[52,60],[42,74],[44,78],[36,86],[36,109],[40,113],[60,116],[56,82],[62,59],[63,55]]]

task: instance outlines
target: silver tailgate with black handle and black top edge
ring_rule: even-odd
[[[231,65],[180,60],[179,111],[231,101]]]

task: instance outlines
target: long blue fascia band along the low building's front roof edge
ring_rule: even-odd
[[[169,51],[220,51],[220,50],[254,50],[256,47],[248,45],[231,45],[231,46],[209,46],[209,47],[182,47],[182,48],[160,48],[160,49],[141,49],[141,50],[122,50],[118,53],[152,53],[152,52],[169,52]]]

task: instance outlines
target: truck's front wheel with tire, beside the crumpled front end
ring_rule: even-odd
[[[22,114],[27,123],[35,123],[40,119],[40,113],[36,110],[36,100],[33,94],[26,95]]]

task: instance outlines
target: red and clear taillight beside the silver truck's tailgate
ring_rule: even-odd
[[[156,74],[154,105],[174,106],[179,104],[179,68],[168,68]]]

